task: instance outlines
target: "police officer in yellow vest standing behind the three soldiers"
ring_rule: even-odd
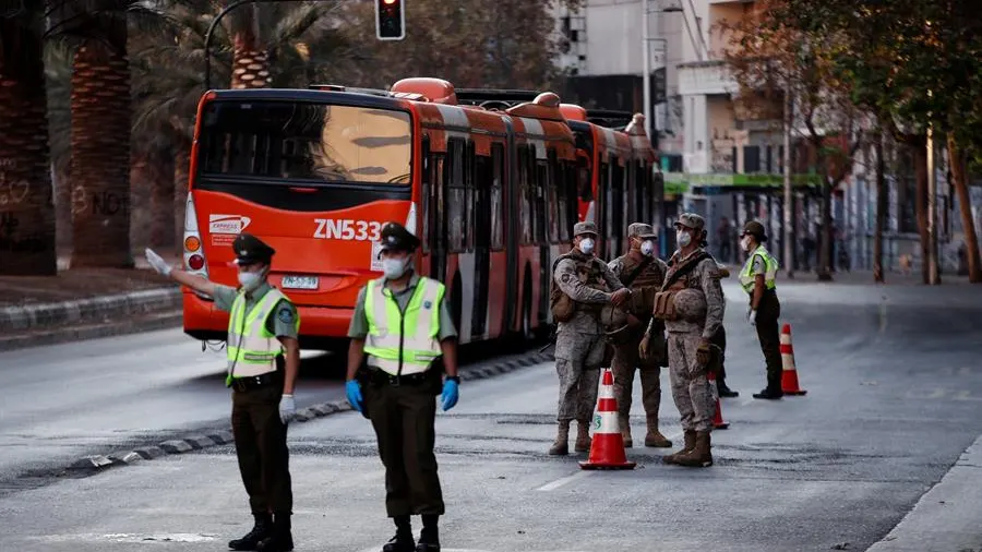
[[[767,387],[755,393],[754,398],[778,399],[781,392],[781,349],[778,334],[778,319],[781,316],[781,303],[777,298],[775,279],[778,262],[764,248],[767,241],[764,225],[756,220],[749,221],[740,236],[740,247],[746,252],[746,264],[740,271],[740,285],[750,296],[747,322],[757,328],[757,338],[767,362]]]

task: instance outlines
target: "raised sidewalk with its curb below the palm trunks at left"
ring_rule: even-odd
[[[0,276],[0,350],[175,327],[180,288],[147,266],[63,268],[57,276]],[[178,263],[176,253],[166,259]],[[68,267],[68,259],[59,259]]]

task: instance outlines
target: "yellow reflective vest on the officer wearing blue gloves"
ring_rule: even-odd
[[[426,372],[440,349],[440,301],[446,288],[420,276],[406,311],[399,310],[385,279],[369,280],[364,291],[368,335],[364,352],[368,364],[392,375]]]

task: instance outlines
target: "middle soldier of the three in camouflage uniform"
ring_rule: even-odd
[[[661,363],[666,360],[664,328],[661,322],[651,319],[651,305],[655,304],[655,293],[661,288],[668,266],[655,255],[657,240],[658,236],[651,225],[635,223],[627,227],[627,242],[631,249],[626,254],[610,262],[610,269],[614,276],[631,289],[631,300],[626,305],[627,323],[608,333],[608,339],[614,348],[611,368],[614,376],[614,396],[618,399],[618,424],[625,447],[634,446],[631,439],[630,412],[636,369],[640,371],[642,404],[647,420],[645,446],[672,446],[672,442],[658,431]],[[657,329],[649,334],[651,339],[646,344],[645,355],[642,358],[638,349],[649,322],[655,323]]]

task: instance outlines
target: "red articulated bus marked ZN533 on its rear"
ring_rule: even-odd
[[[209,91],[199,105],[184,266],[235,285],[242,231],[276,249],[271,283],[306,349],[346,345],[358,290],[381,275],[379,232],[405,221],[421,274],[448,287],[462,343],[530,336],[551,321],[552,260],[577,219],[573,131],[551,93],[504,111],[453,86]],[[460,91],[462,93],[464,91]],[[225,339],[228,315],[184,290],[184,332]]]

